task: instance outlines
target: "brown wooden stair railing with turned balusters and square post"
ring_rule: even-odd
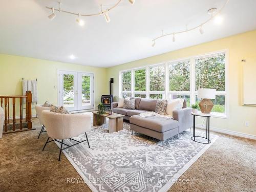
[[[27,127],[24,127],[23,115],[22,115],[22,104],[23,98],[26,99],[26,118],[25,122],[27,122]],[[16,129],[16,99],[19,99],[19,126],[18,130]],[[12,100],[12,123],[10,123],[10,100]],[[1,107],[4,108],[5,111],[5,123],[4,123],[4,131],[3,134],[34,130],[32,129],[32,93],[31,91],[27,91],[26,95],[12,95],[12,96],[0,96]],[[3,105],[4,103],[4,105]],[[4,107],[3,107],[4,106]],[[12,130],[8,130],[8,125],[12,124]]]

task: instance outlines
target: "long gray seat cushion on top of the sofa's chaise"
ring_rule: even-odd
[[[179,126],[179,122],[165,117],[149,116],[141,117],[140,115],[134,115],[130,117],[130,123],[138,126],[145,127],[157,132],[166,132],[168,130],[175,129]]]

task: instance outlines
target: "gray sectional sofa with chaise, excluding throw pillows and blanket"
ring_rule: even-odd
[[[186,100],[180,110],[173,111],[173,118],[148,116],[141,117],[140,113],[155,112],[157,99],[135,98],[135,110],[117,108],[118,102],[111,104],[114,113],[124,115],[124,119],[131,123],[131,130],[163,141],[189,129],[193,125],[192,109],[186,107]]]

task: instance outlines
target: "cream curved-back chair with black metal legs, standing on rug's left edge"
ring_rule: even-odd
[[[91,116],[86,114],[60,114],[60,113],[53,113],[50,111],[42,111],[41,114],[42,118],[44,119],[45,126],[47,127],[47,134],[48,139],[46,141],[46,144],[51,141],[57,141],[61,143],[60,151],[59,151],[59,160],[60,160],[60,154],[62,150],[65,150],[66,148],[69,148],[71,146],[74,146],[76,144],[79,144],[81,142],[87,141],[88,146],[90,148],[90,144],[88,141],[88,137],[86,132],[89,132],[91,130]],[[86,134],[86,140],[83,141],[77,141],[75,139],[72,139],[72,137],[76,137],[78,135],[81,135],[85,133]],[[54,138],[53,140],[49,141],[49,138]],[[61,141],[58,141],[58,140]],[[77,143],[68,145],[63,143],[64,139],[70,139],[73,141],[76,141]],[[44,151],[46,144],[42,151]],[[65,144],[67,147],[62,148],[62,145]]]

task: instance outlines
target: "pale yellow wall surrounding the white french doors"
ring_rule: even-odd
[[[57,69],[94,72],[96,106],[100,96],[108,94],[108,87],[102,83],[106,80],[105,68],[0,54],[0,95],[22,95],[22,78],[37,78],[38,103],[49,100],[57,104]]]

